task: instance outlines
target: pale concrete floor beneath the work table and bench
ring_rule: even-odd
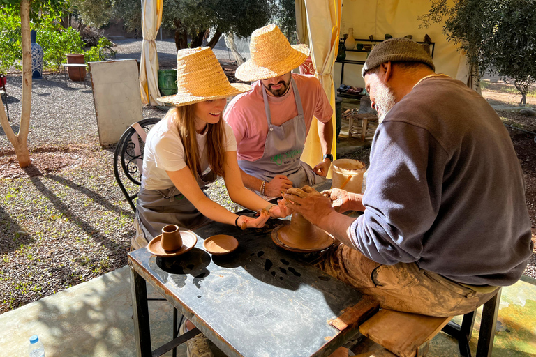
[[[160,297],[149,289],[149,296]],[[536,356],[536,280],[523,277],[502,289],[493,355]],[[172,307],[167,301],[149,301],[153,347],[172,334]],[[459,317],[456,317],[459,319]],[[478,341],[479,314],[470,347]],[[0,356],[27,356],[28,340],[39,335],[47,357],[135,356],[131,283],[128,267],[107,273],[34,303],[0,315]],[[216,357],[225,355],[212,345]],[[172,356],[171,352],[164,356]],[[177,349],[186,357],[186,347]],[[456,340],[445,333],[430,344],[429,357],[459,356]]]

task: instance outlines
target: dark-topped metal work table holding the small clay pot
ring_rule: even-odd
[[[278,223],[241,231],[213,222],[195,230],[198,243],[184,255],[129,253],[138,356],[165,352],[151,351],[146,282],[229,357],[329,356],[350,340],[378,306],[303,255],[278,248],[271,241]],[[210,255],[202,243],[215,234],[234,236],[239,248]],[[176,340],[166,351],[184,337]]]

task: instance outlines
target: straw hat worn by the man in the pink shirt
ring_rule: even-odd
[[[278,77],[305,62],[306,45],[290,45],[278,26],[270,24],[256,29],[249,43],[251,59],[242,63],[234,77],[246,82]]]

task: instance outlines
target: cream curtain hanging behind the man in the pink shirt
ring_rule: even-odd
[[[337,56],[342,0],[296,0],[298,36],[307,34],[315,77],[320,80],[333,108],[332,154],[336,156],[335,87],[333,65]],[[304,20],[306,19],[306,20]],[[318,121],[313,120],[301,160],[314,167],[322,161]]]

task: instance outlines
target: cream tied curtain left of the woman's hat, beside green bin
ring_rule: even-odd
[[[142,59],[140,62],[140,91],[142,105],[162,105],[158,91],[158,54],[154,42],[162,22],[163,0],[142,0]]]

